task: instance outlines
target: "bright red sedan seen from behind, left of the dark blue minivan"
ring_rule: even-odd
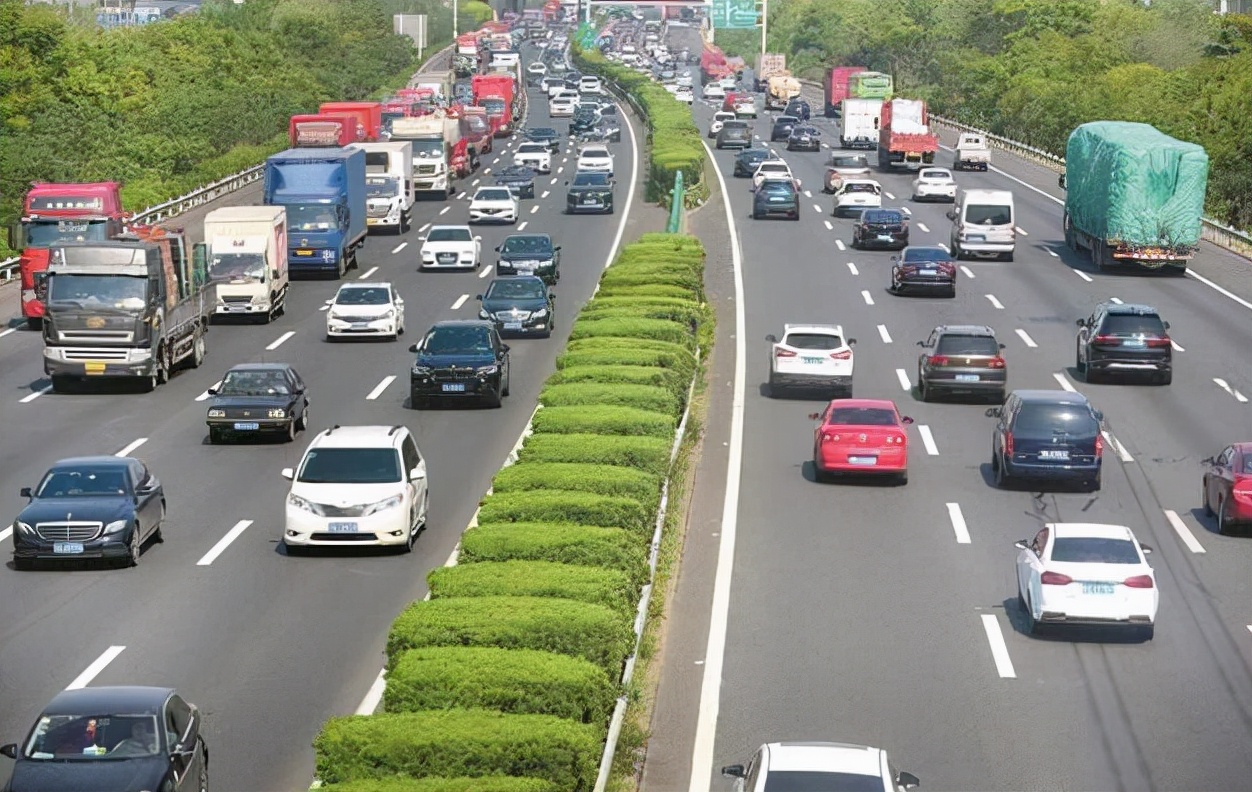
[[[819,482],[833,473],[885,474],[909,483],[909,434],[913,419],[888,399],[835,399],[813,432],[813,468]]]

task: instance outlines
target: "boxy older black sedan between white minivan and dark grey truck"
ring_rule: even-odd
[[[209,388],[209,443],[308,429],[308,388],[287,363],[240,363]]]

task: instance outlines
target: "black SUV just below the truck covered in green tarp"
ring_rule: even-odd
[[[1173,382],[1169,323],[1149,305],[1101,303],[1078,320],[1074,368],[1087,382],[1118,374],[1147,374],[1162,385]]]

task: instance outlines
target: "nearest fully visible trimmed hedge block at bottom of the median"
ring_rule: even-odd
[[[338,783],[387,776],[518,776],[585,792],[603,729],[548,714],[486,709],[331,718],[313,741],[317,776]]]

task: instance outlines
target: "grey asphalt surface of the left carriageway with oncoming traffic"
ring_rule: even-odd
[[[531,124],[548,125],[547,103],[530,91]],[[635,123],[632,120],[632,123]],[[563,130],[563,120],[552,124]],[[40,338],[0,337],[0,509],[58,458],[113,454],[145,459],[165,485],[165,542],[133,569],[15,572],[9,531],[0,532],[0,742],[20,741],[58,691],[79,684],[168,684],[205,717],[215,789],[303,789],[313,777],[314,734],[327,717],[354,712],[383,664],[388,627],[426,592],[426,573],[444,563],[491,478],[523,430],[553,369],[570,323],[590,298],[627,225],[637,178],[637,124],[613,144],[617,214],[567,216],[570,146],[553,173],[522,201],[517,226],[475,226],[483,267],[473,273],[417,272],[419,234],[431,223],[464,223],[470,196],[419,203],[403,236],[372,235],[349,280],[391,280],[407,303],[398,343],[324,340],[324,308],[336,282],[295,282],[285,315],[269,325],[214,325],[207,364],[151,394],[120,388],[84,395],[48,392]],[[461,190],[490,184],[488,169],[511,163],[516,143],[497,140],[482,170]],[[503,158],[503,159],[501,159]],[[209,209],[259,203],[259,184],[175,219],[199,239]],[[632,224],[634,225],[634,224]],[[493,272],[492,249],[510,233],[547,231],[563,246],[557,332],[516,340],[512,395],[501,410],[407,409],[408,345],[442,319],[477,315],[475,295]],[[629,240],[627,240],[629,241]],[[16,300],[6,300],[15,305]],[[232,365],[284,360],[309,383],[314,430],[332,424],[409,427],[428,469],[429,525],[412,556],[356,553],[288,558],[279,549],[288,483],[309,437],[293,444],[209,445],[205,390]],[[9,524],[8,522],[5,523]],[[11,761],[0,761],[8,777]]]

